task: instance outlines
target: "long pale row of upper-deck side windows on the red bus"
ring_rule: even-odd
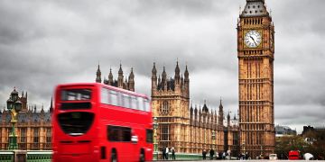
[[[101,90],[101,103],[149,112],[149,100],[132,94],[124,94],[107,88]]]

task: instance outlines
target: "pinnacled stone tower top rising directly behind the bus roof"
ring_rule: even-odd
[[[101,71],[100,71],[99,65],[98,65],[98,70],[96,72],[95,81],[98,83],[102,83]],[[129,91],[135,92],[135,75],[133,73],[133,68],[131,68],[131,73],[127,78],[126,76],[123,76],[122,65],[120,64],[120,67],[118,69],[117,80],[113,78],[112,68],[110,68],[109,74],[108,74],[108,79],[104,77],[103,83],[105,85],[112,85],[112,86],[116,86],[119,88],[123,88],[123,89],[129,90]]]

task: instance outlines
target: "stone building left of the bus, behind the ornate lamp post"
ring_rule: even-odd
[[[18,95],[14,91],[9,97]],[[22,110],[17,114],[15,124],[15,134],[17,135],[18,148],[23,150],[51,150],[51,112],[45,112],[43,107],[41,112],[36,112],[36,106],[27,107],[27,93],[18,97],[22,102]],[[52,105],[52,104],[51,104]],[[0,149],[8,149],[9,134],[12,131],[11,113],[7,110],[0,113]]]

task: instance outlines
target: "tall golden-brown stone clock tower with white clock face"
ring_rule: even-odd
[[[246,0],[237,24],[242,152],[274,152],[274,23],[265,0]]]

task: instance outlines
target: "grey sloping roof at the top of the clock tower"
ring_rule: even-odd
[[[246,0],[246,6],[240,17],[268,16],[265,0]]]

